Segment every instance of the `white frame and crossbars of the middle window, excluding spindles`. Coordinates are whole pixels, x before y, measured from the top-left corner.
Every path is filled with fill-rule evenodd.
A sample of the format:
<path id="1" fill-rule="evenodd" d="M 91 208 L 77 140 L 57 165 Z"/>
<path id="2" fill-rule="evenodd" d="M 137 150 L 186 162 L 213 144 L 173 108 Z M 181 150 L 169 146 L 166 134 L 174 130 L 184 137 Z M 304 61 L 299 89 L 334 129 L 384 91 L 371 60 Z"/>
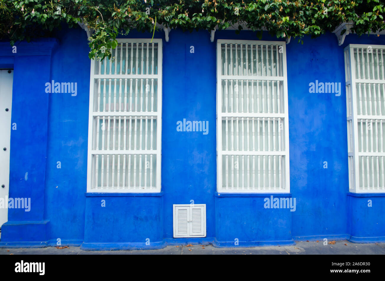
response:
<path id="1" fill-rule="evenodd" d="M 285 113 L 243 113 L 244 117 L 275 117 L 275 118 L 284 118 L 285 126 L 285 151 L 242 151 L 241 155 L 281 155 L 285 156 L 285 178 L 283 182 L 285 183 L 285 189 L 225 189 L 222 187 L 222 118 L 229 116 L 237 116 L 234 113 L 222 113 L 222 66 L 221 66 L 221 44 L 259 44 L 259 45 L 278 45 L 282 46 L 283 53 L 283 76 L 278 78 L 278 76 L 240 76 L 235 75 L 229 76 L 228 79 L 237 79 L 238 80 L 278 80 L 283 83 L 284 90 L 284 101 L 283 106 Z M 286 43 L 283 41 L 257 41 L 257 40 L 217 40 L 217 191 L 218 193 L 290 193 L 290 159 L 289 159 L 289 124 L 288 124 L 288 86 L 287 86 L 287 69 L 286 69 Z M 240 116 L 240 115 L 238 115 Z M 240 151 L 233 151 L 233 155 L 239 155 Z M 228 153 L 228 155 L 230 155 Z"/>

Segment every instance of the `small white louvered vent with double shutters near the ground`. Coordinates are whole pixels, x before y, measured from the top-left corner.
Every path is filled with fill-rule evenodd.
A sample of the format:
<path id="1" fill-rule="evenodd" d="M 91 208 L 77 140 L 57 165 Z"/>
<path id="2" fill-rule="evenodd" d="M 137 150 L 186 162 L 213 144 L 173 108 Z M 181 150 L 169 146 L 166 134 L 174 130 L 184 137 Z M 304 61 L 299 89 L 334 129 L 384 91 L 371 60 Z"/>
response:
<path id="1" fill-rule="evenodd" d="M 174 238 L 206 237 L 206 204 L 173 206 Z"/>

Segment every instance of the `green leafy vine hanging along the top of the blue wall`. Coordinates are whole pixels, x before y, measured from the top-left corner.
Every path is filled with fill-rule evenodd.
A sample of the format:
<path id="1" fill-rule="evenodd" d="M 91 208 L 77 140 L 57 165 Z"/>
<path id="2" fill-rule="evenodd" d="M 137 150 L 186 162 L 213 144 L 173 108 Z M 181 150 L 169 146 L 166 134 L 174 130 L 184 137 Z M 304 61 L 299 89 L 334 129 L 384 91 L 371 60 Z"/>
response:
<path id="1" fill-rule="evenodd" d="M 84 22 L 94 30 L 89 57 L 111 57 L 119 33 L 152 32 L 155 18 L 189 31 L 239 23 L 238 32 L 250 28 L 258 38 L 263 28 L 278 38 L 301 38 L 333 31 L 342 22 L 353 22 L 359 35 L 383 30 L 384 10 L 380 0 L 0 0 L 0 39 L 29 41 L 53 35 L 63 23 L 72 28 Z"/>

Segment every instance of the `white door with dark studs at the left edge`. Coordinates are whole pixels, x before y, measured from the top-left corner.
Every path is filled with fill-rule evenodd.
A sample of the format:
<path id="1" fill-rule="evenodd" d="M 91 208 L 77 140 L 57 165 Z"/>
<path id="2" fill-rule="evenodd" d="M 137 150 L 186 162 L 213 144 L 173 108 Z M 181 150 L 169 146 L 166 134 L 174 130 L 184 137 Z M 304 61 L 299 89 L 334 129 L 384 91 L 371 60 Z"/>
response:
<path id="1" fill-rule="evenodd" d="M 13 70 L 0 70 L 0 228 L 8 221 L 12 80 Z"/>

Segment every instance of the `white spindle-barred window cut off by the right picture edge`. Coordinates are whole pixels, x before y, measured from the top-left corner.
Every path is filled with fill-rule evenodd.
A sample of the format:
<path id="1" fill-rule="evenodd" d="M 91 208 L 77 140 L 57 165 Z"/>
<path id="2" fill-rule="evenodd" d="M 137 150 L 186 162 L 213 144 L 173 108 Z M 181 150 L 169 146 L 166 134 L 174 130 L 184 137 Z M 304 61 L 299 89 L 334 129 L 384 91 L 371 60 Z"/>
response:
<path id="1" fill-rule="evenodd" d="M 384 45 L 345 50 L 349 191 L 385 192 Z"/>

